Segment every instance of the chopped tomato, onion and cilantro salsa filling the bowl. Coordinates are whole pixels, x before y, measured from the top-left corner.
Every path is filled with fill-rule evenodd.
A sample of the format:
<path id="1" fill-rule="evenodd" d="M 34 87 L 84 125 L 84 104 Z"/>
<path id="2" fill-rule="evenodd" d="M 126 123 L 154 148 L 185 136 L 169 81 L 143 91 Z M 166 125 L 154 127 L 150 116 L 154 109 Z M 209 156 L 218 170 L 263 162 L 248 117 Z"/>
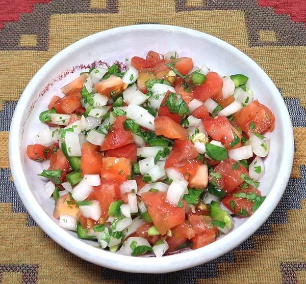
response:
<path id="1" fill-rule="evenodd" d="M 59 225 L 126 255 L 214 242 L 264 202 L 272 111 L 243 74 L 220 76 L 176 52 L 94 66 L 40 113 L 27 155 Z"/>

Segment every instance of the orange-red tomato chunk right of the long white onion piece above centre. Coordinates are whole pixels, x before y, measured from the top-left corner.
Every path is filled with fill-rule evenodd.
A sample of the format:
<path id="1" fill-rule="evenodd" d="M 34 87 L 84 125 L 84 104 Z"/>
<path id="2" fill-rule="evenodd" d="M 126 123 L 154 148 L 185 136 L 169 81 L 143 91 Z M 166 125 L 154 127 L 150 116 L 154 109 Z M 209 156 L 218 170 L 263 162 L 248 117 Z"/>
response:
<path id="1" fill-rule="evenodd" d="M 156 135 L 164 135 L 170 139 L 188 139 L 186 129 L 173 119 L 162 116 L 157 117 L 154 122 Z"/>

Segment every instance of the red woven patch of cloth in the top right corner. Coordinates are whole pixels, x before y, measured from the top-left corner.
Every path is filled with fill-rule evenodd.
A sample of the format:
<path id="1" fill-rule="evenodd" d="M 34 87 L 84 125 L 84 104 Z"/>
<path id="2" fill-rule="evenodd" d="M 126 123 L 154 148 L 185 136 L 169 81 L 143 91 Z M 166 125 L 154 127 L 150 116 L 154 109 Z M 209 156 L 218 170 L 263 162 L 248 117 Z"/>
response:
<path id="1" fill-rule="evenodd" d="M 258 5 L 273 7 L 276 14 L 290 15 L 295 22 L 306 22 L 306 0 L 258 0 Z"/>

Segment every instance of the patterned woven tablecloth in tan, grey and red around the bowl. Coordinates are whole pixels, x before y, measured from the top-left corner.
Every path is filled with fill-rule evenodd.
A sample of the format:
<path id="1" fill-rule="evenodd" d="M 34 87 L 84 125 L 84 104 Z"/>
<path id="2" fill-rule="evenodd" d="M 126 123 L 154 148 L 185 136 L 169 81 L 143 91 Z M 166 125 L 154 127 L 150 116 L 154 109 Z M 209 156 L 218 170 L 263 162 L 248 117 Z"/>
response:
<path id="1" fill-rule="evenodd" d="M 306 283 L 305 0 L 0 0 L 0 282 Z M 9 125 L 31 77 L 58 51 L 111 27 L 190 27 L 238 47 L 269 74 L 289 109 L 295 159 L 268 221 L 210 263 L 163 275 L 117 272 L 65 251 L 35 224 L 14 187 Z"/>

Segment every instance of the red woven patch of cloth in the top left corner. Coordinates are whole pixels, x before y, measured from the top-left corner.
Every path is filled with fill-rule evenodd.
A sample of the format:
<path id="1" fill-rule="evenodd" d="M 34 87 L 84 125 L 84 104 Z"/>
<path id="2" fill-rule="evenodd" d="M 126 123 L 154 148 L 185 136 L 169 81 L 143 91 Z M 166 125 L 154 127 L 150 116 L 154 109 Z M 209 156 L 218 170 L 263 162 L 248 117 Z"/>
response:
<path id="1" fill-rule="evenodd" d="M 32 13 L 37 3 L 48 3 L 50 0 L 0 0 L 0 29 L 5 22 L 18 21 L 20 14 Z"/>

